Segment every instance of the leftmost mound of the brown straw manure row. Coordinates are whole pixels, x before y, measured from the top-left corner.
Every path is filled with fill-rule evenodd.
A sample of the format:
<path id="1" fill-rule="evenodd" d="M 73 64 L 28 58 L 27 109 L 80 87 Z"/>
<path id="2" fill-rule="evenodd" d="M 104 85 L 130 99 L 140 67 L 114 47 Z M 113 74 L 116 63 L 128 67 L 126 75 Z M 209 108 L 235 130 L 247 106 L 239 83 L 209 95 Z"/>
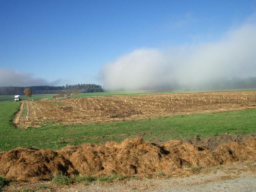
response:
<path id="1" fill-rule="evenodd" d="M 50 149 L 16 148 L 0 154 L 0 175 L 12 180 L 48 180 L 74 174 L 72 164 Z"/>

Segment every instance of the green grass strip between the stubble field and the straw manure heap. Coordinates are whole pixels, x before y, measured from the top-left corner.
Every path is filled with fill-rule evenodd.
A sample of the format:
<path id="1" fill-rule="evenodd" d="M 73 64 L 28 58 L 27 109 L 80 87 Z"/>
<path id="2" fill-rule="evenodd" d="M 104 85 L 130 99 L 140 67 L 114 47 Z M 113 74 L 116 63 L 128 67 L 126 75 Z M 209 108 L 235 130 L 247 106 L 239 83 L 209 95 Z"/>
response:
<path id="1" fill-rule="evenodd" d="M 35 97 L 46 98 L 45 95 Z M 19 146 L 59 149 L 70 144 L 102 144 L 137 136 L 151 142 L 164 142 L 170 139 L 191 138 L 195 135 L 205 137 L 225 132 L 256 132 L 256 109 L 109 124 L 63 126 L 52 122 L 41 128 L 20 130 L 12 124 L 19 106 L 20 102 L 0 102 L 0 151 Z"/>

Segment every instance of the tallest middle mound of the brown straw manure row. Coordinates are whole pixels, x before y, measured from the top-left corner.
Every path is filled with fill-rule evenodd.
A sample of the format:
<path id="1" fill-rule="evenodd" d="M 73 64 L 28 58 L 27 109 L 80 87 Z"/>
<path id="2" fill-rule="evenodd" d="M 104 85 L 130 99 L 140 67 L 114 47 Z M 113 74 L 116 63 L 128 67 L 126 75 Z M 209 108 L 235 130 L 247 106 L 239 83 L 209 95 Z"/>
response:
<path id="1" fill-rule="evenodd" d="M 120 173 L 133 175 L 154 172 L 161 166 L 160 149 L 141 138 L 126 139 L 122 143 L 108 142 L 105 145 L 83 144 L 59 151 L 76 170 L 83 175 Z"/>

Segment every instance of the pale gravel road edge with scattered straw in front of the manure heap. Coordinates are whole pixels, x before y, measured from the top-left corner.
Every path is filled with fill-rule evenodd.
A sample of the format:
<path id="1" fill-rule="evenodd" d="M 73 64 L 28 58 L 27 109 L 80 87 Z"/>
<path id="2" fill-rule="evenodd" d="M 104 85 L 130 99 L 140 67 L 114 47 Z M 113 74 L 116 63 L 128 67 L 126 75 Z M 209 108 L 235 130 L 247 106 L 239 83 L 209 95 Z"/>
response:
<path id="1" fill-rule="evenodd" d="M 40 190 L 39 190 L 40 189 Z M 205 168 L 188 176 L 130 179 L 55 186 L 50 181 L 20 183 L 2 189 L 35 192 L 256 192 L 256 162 Z M 1 190 L 0 190 L 1 191 Z"/>

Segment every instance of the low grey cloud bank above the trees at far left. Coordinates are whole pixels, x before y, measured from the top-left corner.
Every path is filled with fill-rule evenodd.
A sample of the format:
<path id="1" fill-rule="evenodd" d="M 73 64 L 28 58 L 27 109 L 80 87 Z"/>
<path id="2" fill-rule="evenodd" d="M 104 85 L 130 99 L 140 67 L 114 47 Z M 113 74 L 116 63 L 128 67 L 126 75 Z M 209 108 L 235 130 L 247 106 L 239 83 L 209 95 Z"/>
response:
<path id="1" fill-rule="evenodd" d="M 36 78 L 29 72 L 18 72 L 7 68 L 0 68 L 0 86 L 41 86 L 57 85 L 60 80 L 49 82 L 42 78 Z"/>

